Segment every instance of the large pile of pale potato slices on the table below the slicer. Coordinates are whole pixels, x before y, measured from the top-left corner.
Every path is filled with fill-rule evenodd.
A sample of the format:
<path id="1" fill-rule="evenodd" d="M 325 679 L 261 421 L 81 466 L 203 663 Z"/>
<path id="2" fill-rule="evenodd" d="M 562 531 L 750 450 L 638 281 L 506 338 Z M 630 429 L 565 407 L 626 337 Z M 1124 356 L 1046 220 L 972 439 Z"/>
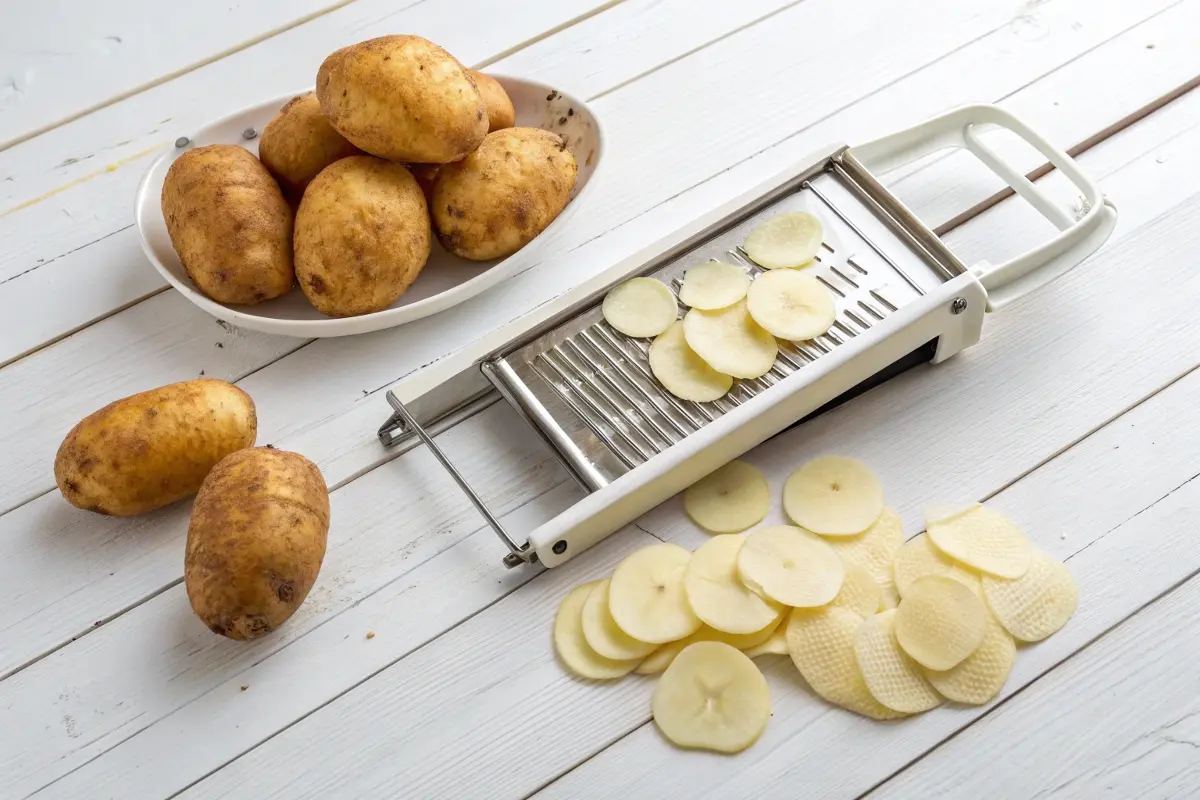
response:
<path id="1" fill-rule="evenodd" d="M 680 747 L 739 752 L 770 717 L 752 658 L 790 655 L 821 698 L 872 720 L 946 700 L 982 705 L 1075 612 L 1066 566 L 998 511 L 930 505 L 905 541 L 862 462 L 820 456 L 784 483 L 791 525 L 757 525 L 770 489 L 733 461 L 683 494 L 714 536 L 695 552 L 643 547 L 610 578 L 572 589 L 554 648 L 575 675 L 659 674 L 652 711 Z"/>

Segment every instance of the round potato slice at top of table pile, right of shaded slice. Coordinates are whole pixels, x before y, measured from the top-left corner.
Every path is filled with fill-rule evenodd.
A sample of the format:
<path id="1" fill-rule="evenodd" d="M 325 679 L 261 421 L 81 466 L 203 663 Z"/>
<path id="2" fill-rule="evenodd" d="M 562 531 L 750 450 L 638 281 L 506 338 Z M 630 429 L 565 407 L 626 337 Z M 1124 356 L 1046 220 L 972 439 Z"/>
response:
<path id="1" fill-rule="evenodd" d="M 856 458 L 817 456 L 784 483 L 784 512 L 814 534 L 854 536 L 883 513 L 883 485 Z"/>

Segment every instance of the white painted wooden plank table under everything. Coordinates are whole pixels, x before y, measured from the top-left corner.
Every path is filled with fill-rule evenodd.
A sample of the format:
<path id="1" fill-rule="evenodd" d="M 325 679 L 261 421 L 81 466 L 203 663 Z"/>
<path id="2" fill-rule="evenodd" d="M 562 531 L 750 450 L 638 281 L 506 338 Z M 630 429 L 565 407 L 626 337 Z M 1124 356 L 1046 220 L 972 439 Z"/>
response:
<path id="1" fill-rule="evenodd" d="M 0 796 L 1200 795 L 1200 0 L 42 0 L 2 22 Z M 154 155 L 390 32 L 602 115 L 600 185 L 540 264 L 415 324 L 311 342 L 167 290 L 132 218 Z M 548 625 L 634 547 L 697 543 L 677 505 L 560 569 L 508 571 L 430 453 L 378 445 L 383 392 L 822 145 L 965 102 L 1081 145 L 1112 239 L 976 348 L 749 458 L 778 492 L 812 453 L 862 457 L 910 535 L 928 500 L 988 499 L 1067 559 L 1079 612 L 986 708 L 874 723 L 768 660 L 754 747 L 676 751 L 653 681 L 570 679 Z M 997 185 L 965 156 L 890 182 L 967 261 L 1050 233 L 1020 200 L 979 205 Z M 1072 201 L 1061 175 L 1042 182 Z M 316 589 L 252 644 L 188 608 L 188 503 L 110 519 L 54 489 L 78 419 L 200 374 L 246 389 L 259 443 L 332 489 Z M 508 408 L 439 441 L 512 528 L 575 499 Z"/>

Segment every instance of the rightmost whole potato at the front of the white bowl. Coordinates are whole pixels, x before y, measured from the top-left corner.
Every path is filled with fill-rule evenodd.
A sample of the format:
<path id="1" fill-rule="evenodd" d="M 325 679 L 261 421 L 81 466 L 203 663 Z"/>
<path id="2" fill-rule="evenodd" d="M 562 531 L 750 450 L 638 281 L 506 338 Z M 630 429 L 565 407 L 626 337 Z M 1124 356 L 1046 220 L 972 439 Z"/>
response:
<path id="1" fill-rule="evenodd" d="M 566 206 L 577 172 L 557 133 L 488 133 L 479 150 L 438 170 L 432 215 L 442 246 L 476 261 L 517 252 Z"/>

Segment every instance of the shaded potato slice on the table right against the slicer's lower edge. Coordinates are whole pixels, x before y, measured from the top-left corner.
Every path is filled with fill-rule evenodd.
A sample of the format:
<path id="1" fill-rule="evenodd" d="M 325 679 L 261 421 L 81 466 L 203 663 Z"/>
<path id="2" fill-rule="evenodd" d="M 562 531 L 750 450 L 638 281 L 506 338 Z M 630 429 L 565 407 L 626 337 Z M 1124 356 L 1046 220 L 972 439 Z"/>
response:
<path id="1" fill-rule="evenodd" d="M 770 487 L 756 467 L 731 461 L 684 489 L 683 510 L 710 534 L 738 534 L 767 516 Z"/>

